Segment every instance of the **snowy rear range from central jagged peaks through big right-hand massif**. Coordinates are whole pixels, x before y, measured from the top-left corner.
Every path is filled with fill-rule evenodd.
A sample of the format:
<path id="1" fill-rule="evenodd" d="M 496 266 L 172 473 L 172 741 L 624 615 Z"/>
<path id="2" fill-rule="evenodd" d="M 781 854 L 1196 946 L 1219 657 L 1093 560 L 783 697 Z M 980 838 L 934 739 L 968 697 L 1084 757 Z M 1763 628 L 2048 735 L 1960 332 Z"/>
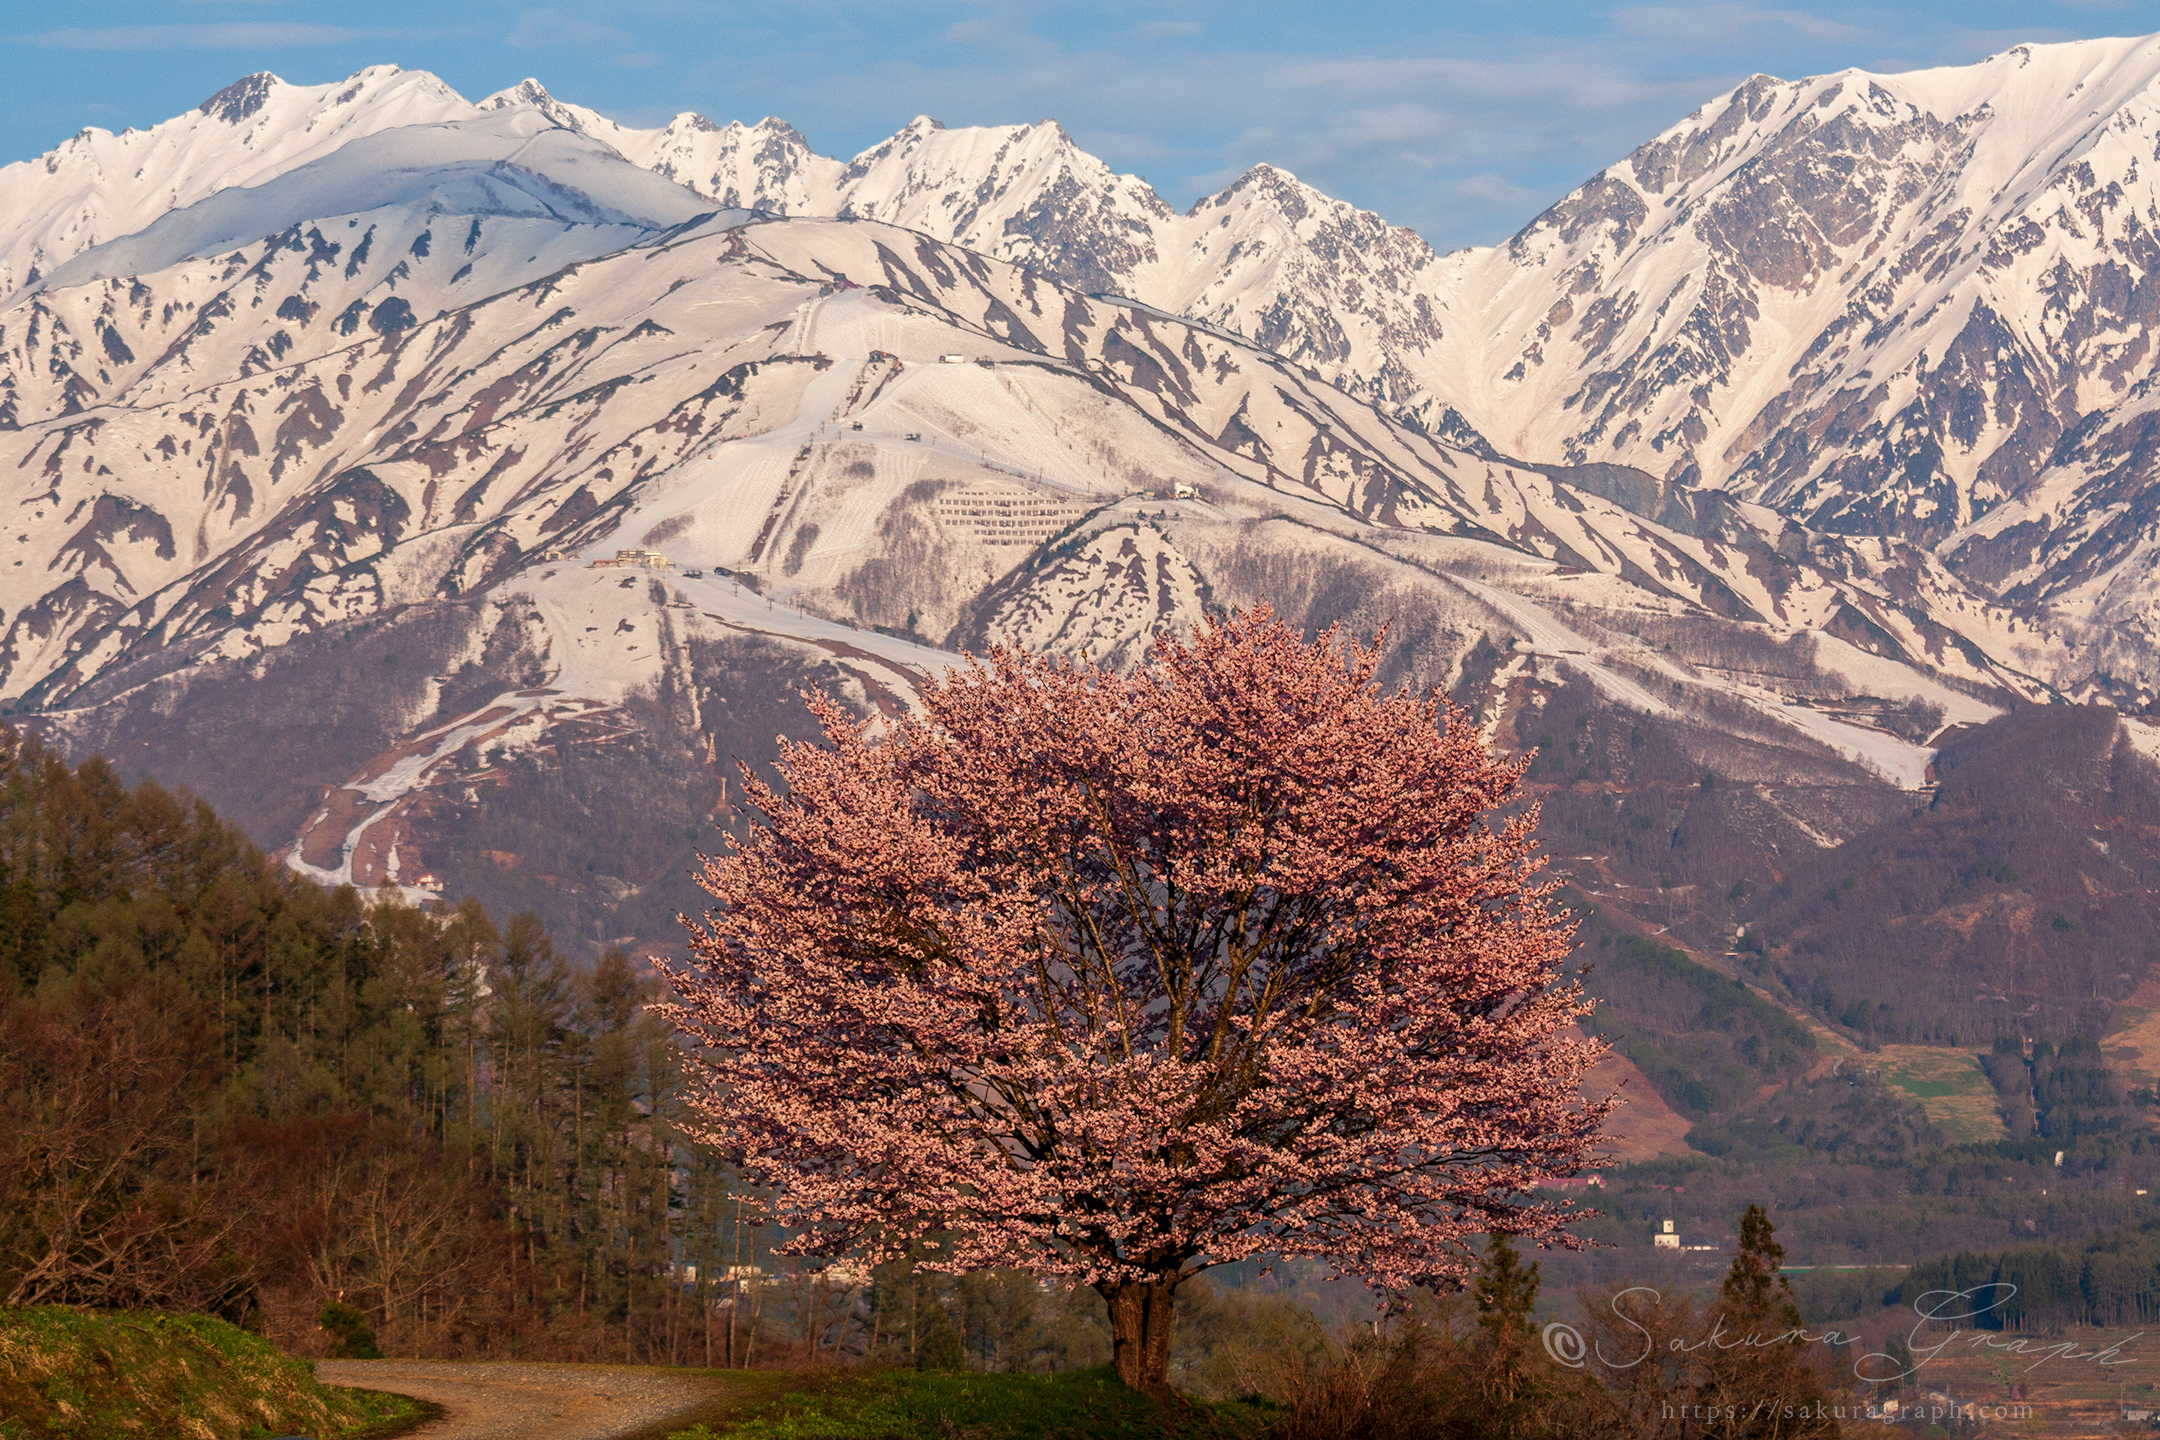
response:
<path id="1" fill-rule="evenodd" d="M 1052 123 L 927 119 L 849 164 L 778 121 L 637 132 L 531 104 L 715 201 L 877 216 L 1231 330 L 1480 453 L 1622 464 L 1940 555 L 2160 695 L 2138 497 L 2160 39 L 1758 76 L 1514 240 L 1436 257 L 1259 166 L 1175 214 Z"/>

